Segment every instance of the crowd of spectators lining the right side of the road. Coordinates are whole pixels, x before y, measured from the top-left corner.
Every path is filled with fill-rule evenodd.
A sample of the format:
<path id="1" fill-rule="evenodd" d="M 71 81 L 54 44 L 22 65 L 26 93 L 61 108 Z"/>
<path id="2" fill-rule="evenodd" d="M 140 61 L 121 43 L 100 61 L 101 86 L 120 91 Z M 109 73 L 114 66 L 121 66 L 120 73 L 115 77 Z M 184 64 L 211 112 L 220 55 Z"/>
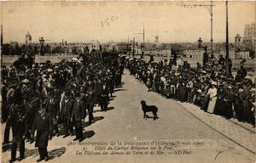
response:
<path id="1" fill-rule="evenodd" d="M 230 70 L 227 75 L 225 64 L 222 56 L 209 59 L 205 66 L 197 63 L 196 67 L 188 61 L 177 66 L 172 59 L 155 62 L 153 57 L 148 62 L 128 57 L 125 60 L 125 67 L 148 87 L 148 92 L 195 104 L 208 113 L 236 118 L 254 127 L 255 85 L 243 65 L 234 77 Z"/>

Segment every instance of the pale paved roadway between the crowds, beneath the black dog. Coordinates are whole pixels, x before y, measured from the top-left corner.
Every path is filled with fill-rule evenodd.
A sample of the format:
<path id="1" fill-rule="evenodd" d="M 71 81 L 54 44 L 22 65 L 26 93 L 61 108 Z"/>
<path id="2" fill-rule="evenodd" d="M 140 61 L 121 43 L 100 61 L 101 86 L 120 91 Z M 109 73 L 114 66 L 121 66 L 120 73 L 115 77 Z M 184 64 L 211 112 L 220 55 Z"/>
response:
<path id="1" fill-rule="evenodd" d="M 68 146 L 73 137 L 53 138 L 49 142 L 49 162 L 253 162 L 254 155 L 219 132 L 191 115 L 176 101 L 148 92 L 147 87 L 125 70 L 122 87 L 116 89 L 109 104 L 110 110 L 95 109 L 96 123 L 86 126 L 83 143 L 119 141 L 166 141 L 203 142 L 201 147 L 189 146 L 187 155 L 76 155 L 84 147 L 78 144 Z M 159 108 L 159 119 L 143 119 L 141 100 Z M 151 113 L 148 113 L 150 115 Z M 88 117 L 86 117 L 88 121 Z M 4 128 L 4 127 L 3 127 Z M 18 155 L 19 156 L 19 155 Z M 3 153 L 3 162 L 10 158 L 10 151 Z M 21 162 L 35 162 L 38 151 L 34 143 L 26 143 L 26 159 Z M 44 161 L 43 161 L 44 162 Z"/>

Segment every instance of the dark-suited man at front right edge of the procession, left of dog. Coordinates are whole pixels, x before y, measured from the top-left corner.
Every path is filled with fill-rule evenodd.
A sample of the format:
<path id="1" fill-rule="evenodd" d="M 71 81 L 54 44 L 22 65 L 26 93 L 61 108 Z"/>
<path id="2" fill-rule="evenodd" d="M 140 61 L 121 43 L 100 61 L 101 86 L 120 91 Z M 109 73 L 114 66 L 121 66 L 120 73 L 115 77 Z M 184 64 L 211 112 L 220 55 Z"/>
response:
<path id="1" fill-rule="evenodd" d="M 75 102 L 73 104 L 73 111 L 71 115 L 71 121 L 74 122 L 76 138 L 73 141 L 79 140 L 79 142 L 83 141 L 83 127 L 82 121 L 85 118 L 86 112 L 84 108 L 84 101 L 80 99 L 80 94 L 75 94 Z"/>

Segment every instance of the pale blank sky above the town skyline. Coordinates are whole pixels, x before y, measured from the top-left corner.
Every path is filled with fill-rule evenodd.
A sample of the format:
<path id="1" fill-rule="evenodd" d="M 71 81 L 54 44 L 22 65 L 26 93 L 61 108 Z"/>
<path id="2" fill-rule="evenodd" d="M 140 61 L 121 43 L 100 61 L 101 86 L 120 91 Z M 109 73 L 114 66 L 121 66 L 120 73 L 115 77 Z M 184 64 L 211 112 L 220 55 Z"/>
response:
<path id="1" fill-rule="evenodd" d="M 210 41 L 210 14 L 207 8 L 184 8 L 183 4 L 210 2 L 2 2 L 3 42 L 32 42 L 44 37 L 48 42 L 126 41 L 128 36 L 154 42 Z M 214 2 L 213 41 L 225 41 L 225 3 Z M 229 2 L 230 42 L 244 26 L 255 23 L 254 2 Z"/>

